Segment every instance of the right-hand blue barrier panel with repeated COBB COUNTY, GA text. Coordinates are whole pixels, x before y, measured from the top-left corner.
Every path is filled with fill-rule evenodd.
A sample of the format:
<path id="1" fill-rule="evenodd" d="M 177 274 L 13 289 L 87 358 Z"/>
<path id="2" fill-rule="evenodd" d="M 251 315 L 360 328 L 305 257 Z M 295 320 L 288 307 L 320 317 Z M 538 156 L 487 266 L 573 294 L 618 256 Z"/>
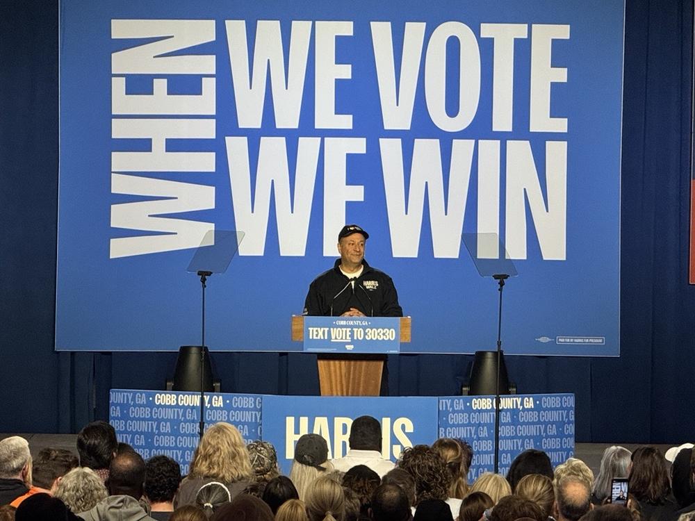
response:
<path id="1" fill-rule="evenodd" d="M 473 447 L 468 480 L 493 472 L 495 397 L 439 398 L 439 436 L 461 438 Z M 512 395 L 501 397 L 500 474 L 525 449 L 550 456 L 553 467 L 574 454 L 574 395 Z"/>

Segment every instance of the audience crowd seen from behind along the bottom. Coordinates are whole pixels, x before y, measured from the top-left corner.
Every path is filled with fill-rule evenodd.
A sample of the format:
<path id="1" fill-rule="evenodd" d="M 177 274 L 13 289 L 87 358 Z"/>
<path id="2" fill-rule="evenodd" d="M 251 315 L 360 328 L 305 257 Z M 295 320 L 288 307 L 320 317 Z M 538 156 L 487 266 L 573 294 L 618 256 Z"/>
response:
<path id="1" fill-rule="evenodd" d="M 77 455 L 19 436 L 0 440 L 0 521 L 695 521 L 695 453 L 609 447 L 600 470 L 577 458 L 553 469 L 545 452 L 519 454 L 507 476 L 473 483 L 473 450 L 440 438 L 382 458 L 375 418 L 354 420 L 350 448 L 329 459 L 326 440 L 305 434 L 285 476 L 275 447 L 246 443 L 228 423 L 209 427 L 181 476 L 167 456 L 147 461 L 118 443 L 106 422 L 79 433 Z M 78 457 L 79 456 L 79 457 Z M 625 501 L 612 502 L 625 478 Z M 621 489 L 621 493 L 623 489 Z"/>

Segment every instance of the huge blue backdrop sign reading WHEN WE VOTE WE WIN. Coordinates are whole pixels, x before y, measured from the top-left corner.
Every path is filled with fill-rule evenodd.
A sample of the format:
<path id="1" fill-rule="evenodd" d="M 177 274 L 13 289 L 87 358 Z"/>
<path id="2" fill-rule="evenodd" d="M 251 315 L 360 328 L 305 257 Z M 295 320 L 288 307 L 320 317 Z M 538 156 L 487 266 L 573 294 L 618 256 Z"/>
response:
<path id="1" fill-rule="evenodd" d="M 56 349 L 300 351 L 338 231 L 414 318 L 402 352 L 619 354 L 624 0 L 60 1 Z M 479 249 L 479 251 L 481 251 Z M 498 247 L 483 248 L 499 258 Z M 584 341 L 586 340 L 586 341 Z"/>

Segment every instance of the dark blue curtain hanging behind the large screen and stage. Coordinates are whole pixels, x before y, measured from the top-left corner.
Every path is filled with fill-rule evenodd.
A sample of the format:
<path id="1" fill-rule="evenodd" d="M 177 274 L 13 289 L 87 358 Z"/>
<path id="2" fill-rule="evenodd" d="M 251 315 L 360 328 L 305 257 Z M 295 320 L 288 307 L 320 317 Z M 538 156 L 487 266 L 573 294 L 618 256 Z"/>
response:
<path id="1" fill-rule="evenodd" d="M 519 392 L 574 392 L 580 442 L 692 440 L 687 283 L 693 5 L 628 0 L 620 358 L 509 357 Z M 0 432 L 75 432 L 109 388 L 163 388 L 176 354 L 56 353 L 58 7 L 0 16 Z M 88 267 L 85 267 L 88 269 Z M 591 283 L 591 281 L 587 281 Z M 571 288 L 569 288 L 571 289 Z M 215 354 L 226 392 L 318 394 L 316 358 Z M 456 395 L 471 356 L 389 356 L 393 395 Z"/>

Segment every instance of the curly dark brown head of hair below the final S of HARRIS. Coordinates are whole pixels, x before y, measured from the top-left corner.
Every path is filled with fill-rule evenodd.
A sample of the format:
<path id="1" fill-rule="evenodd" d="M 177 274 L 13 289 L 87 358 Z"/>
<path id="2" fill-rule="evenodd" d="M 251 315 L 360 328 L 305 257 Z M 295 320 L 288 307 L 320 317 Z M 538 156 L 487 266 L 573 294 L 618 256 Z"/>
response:
<path id="1" fill-rule="evenodd" d="M 427 445 L 415 445 L 400 455 L 398 467 L 407 470 L 415 480 L 415 501 L 446 499 L 451 474 L 436 452 Z"/>

